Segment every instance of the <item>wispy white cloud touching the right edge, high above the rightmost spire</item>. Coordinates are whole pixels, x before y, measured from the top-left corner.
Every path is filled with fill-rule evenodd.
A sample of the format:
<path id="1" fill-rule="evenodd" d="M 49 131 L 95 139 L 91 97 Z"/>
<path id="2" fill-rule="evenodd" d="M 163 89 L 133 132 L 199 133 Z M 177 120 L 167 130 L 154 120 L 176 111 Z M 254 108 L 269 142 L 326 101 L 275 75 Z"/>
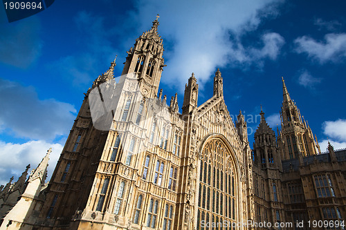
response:
<path id="1" fill-rule="evenodd" d="M 307 36 L 298 37 L 294 41 L 295 52 L 306 53 L 320 64 L 337 62 L 346 57 L 346 33 L 330 33 L 325 35 L 325 41 L 316 41 Z"/>

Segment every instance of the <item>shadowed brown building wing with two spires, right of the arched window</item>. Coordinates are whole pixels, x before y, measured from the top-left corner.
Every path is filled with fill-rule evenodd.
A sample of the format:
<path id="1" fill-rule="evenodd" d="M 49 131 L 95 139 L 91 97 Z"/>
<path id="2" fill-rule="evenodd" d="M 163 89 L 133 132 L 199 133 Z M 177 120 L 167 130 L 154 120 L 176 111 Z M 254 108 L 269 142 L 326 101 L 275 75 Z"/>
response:
<path id="1" fill-rule="evenodd" d="M 346 216 L 346 149 L 334 151 L 329 143 L 328 151 L 320 152 L 317 137 L 313 138 L 309 124 L 289 96 L 284 79 L 282 84 L 281 131 L 277 128 L 276 137 L 261 111 L 255 132 L 255 220 L 293 224 L 286 229 L 345 229 L 333 224 L 314 227 L 313 221 L 339 223 Z"/>

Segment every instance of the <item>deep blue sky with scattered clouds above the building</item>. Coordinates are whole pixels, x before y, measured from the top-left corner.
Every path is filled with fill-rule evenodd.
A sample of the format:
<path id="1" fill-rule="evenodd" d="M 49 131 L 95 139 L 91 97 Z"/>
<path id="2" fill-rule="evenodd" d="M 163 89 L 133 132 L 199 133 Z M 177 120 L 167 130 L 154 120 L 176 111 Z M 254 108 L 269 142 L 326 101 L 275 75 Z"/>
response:
<path id="1" fill-rule="evenodd" d="M 249 142 L 260 122 L 280 125 L 284 77 L 291 98 L 317 135 L 346 147 L 345 1 L 82 1 L 8 23 L 0 10 L 0 184 L 37 166 L 53 148 L 51 174 L 83 93 L 160 14 L 163 94 L 178 93 L 192 74 L 199 104 L 212 96 L 220 68 L 230 115 L 242 110 Z M 33 169 L 33 168 L 32 168 Z"/>

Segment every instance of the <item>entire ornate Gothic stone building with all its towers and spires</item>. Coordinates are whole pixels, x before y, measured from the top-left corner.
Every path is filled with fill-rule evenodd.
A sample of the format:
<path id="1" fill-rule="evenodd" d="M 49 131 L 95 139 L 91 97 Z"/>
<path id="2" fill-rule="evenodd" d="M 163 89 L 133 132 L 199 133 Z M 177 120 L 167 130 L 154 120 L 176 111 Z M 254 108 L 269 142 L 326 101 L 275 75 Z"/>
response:
<path id="1" fill-rule="evenodd" d="M 225 221 L 224 229 L 260 229 L 242 223 L 342 220 L 346 151 L 329 146 L 319 154 L 286 86 L 282 130 L 276 138 L 261 112 L 251 151 L 244 116 L 233 121 L 227 110 L 219 70 L 207 102 L 197 106 L 192 74 L 182 113 L 177 95 L 166 105 L 157 29 L 156 19 L 127 51 L 120 79 L 115 61 L 95 79 L 51 181 L 44 184 L 48 151 L 26 182 L 28 169 L 2 189 L 0 229 L 209 229 L 206 222 Z"/>

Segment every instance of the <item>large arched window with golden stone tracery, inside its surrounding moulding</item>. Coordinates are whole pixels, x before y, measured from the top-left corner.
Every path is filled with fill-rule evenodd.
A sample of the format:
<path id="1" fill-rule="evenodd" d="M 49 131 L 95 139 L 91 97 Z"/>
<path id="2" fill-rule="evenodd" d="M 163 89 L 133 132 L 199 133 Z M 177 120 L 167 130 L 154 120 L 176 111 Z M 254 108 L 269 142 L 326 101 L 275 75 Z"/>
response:
<path id="1" fill-rule="evenodd" d="M 236 222 L 237 175 L 230 150 L 222 140 L 214 138 L 205 144 L 201 155 L 197 229 L 203 229 L 200 224 L 207 218 Z"/>

